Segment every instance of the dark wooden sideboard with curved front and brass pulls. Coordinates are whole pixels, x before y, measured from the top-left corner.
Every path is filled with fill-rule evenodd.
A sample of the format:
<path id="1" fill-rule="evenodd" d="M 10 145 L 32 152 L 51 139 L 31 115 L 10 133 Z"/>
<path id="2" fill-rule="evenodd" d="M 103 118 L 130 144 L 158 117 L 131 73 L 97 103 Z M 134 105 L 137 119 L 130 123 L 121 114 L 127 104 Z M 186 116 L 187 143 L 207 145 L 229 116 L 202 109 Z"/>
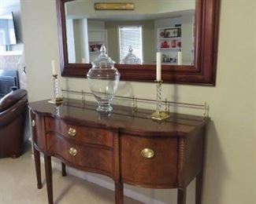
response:
<path id="1" fill-rule="evenodd" d="M 123 184 L 145 188 L 178 188 L 178 204 L 186 203 L 187 185 L 196 177 L 196 204 L 202 203 L 202 169 L 206 120 L 171 114 L 164 122 L 152 111 L 113 106 L 109 115 L 92 102 L 65 99 L 29 104 L 38 188 L 42 188 L 43 152 L 49 203 L 54 203 L 51 156 L 65 165 L 113 178 L 116 203 L 123 203 Z"/>

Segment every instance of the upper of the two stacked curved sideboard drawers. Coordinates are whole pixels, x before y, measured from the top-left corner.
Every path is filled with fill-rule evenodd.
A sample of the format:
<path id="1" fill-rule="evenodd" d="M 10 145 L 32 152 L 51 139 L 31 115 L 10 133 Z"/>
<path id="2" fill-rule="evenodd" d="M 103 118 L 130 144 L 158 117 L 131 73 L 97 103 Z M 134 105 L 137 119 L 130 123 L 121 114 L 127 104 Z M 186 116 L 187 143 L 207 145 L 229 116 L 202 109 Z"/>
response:
<path id="1" fill-rule="evenodd" d="M 113 148 L 113 133 L 106 129 L 76 126 L 59 119 L 46 118 L 46 131 L 60 133 L 78 143 L 101 144 Z"/>

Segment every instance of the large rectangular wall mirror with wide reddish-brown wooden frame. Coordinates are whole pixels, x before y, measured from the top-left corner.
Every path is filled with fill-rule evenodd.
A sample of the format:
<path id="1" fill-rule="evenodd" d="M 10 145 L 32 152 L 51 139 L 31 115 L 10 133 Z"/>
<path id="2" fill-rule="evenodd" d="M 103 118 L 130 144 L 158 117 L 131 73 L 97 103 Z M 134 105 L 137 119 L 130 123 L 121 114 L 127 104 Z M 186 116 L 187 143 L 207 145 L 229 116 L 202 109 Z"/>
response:
<path id="1" fill-rule="evenodd" d="M 134 0 L 134 10 L 95 2 L 57 0 L 62 76 L 85 78 L 104 45 L 121 80 L 154 82 L 161 52 L 164 82 L 215 85 L 218 0 Z"/>

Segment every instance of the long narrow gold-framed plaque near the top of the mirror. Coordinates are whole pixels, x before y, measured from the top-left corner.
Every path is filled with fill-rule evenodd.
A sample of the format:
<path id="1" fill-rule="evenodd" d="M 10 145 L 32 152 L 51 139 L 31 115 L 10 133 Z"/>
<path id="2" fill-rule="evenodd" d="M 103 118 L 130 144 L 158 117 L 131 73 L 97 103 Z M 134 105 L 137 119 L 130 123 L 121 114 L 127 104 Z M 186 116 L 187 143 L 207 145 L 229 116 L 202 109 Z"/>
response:
<path id="1" fill-rule="evenodd" d="M 134 10 L 134 3 L 95 3 L 95 10 Z"/>

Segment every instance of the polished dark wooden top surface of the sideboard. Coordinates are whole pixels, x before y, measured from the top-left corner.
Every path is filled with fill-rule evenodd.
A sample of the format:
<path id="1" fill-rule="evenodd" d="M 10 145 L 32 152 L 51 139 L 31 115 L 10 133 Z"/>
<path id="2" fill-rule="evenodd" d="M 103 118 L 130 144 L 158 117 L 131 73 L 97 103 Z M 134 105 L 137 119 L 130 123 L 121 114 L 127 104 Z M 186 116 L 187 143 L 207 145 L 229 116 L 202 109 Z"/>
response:
<path id="1" fill-rule="evenodd" d="M 184 136 L 195 129 L 206 125 L 203 117 L 195 115 L 181 115 L 171 113 L 171 117 L 163 122 L 149 118 L 152 110 L 137 108 L 133 112 L 132 107 L 113 105 L 113 111 L 109 115 L 96 111 L 95 102 L 65 99 L 60 106 L 48 103 L 48 100 L 40 100 L 29 103 L 29 108 L 39 115 L 52 118 L 61 118 L 73 125 L 95 126 L 121 131 L 122 133 L 141 134 L 154 136 L 161 133 L 165 136 Z"/>

